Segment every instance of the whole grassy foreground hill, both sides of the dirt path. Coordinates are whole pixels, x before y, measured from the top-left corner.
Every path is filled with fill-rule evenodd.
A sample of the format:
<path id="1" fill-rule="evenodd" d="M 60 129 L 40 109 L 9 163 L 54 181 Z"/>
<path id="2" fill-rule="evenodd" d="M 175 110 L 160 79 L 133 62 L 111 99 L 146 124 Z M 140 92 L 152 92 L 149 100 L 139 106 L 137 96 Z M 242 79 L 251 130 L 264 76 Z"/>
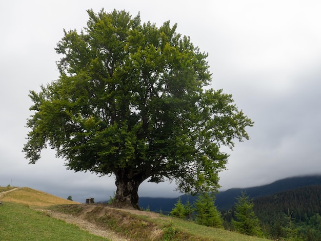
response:
<path id="1" fill-rule="evenodd" d="M 77 204 L 30 188 L 4 191 L 8 190 L 0 188 L 3 203 L 0 206 L 0 240 L 109 240 L 57 220 L 51 212 L 73 215 L 95 227 L 112 230 L 123 238 L 118 240 L 267 240 L 152 212 L 117 210 L 106 204 Z M 35 207 L 43 211 L 34 210 Z"/>

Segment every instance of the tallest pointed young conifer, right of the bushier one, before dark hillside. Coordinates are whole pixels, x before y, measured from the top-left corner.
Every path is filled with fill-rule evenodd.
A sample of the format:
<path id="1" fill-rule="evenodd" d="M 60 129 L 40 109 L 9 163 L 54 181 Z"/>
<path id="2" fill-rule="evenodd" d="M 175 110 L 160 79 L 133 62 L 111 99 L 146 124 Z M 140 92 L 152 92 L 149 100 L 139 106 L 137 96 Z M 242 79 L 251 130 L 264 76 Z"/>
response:
<path id="1" fill-rule="evenodd" d="M 254 204 L 252 199 L 246 196 L 246 192 L 242 192 L 242 196 L 238 196 L 236 199 L 236 220 L 232 220 L 234 228 L 242 234 L 263 236 L 259 220 L 253 211 Z"/>

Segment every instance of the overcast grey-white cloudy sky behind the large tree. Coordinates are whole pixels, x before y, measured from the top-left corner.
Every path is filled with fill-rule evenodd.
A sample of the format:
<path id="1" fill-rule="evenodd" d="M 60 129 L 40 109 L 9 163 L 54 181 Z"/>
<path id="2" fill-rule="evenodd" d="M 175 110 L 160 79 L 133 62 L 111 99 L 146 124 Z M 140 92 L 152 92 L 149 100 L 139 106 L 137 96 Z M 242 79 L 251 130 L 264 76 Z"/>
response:
<path id="1" fill-rule="evenodd" d="M 321 174 L 321 2 L 285 0 L 1 1 L 0 185 L 30 187 L 84 202 L 106 200 L 114 179 L 74 173 L 45 150 L 35 165 L 22 153 L 31 112 L 29 90 L 58 77 L 56 43 L 63 29 L 86 26 L 86 10 L 141 12 L 142 22 L 170 20 L 208 52 L 214 89 L 232 94 L 254 122 L 237 143 L 222 190 Z M 173 184 L 143 183 L 140 196 L 178 196 Z"/>

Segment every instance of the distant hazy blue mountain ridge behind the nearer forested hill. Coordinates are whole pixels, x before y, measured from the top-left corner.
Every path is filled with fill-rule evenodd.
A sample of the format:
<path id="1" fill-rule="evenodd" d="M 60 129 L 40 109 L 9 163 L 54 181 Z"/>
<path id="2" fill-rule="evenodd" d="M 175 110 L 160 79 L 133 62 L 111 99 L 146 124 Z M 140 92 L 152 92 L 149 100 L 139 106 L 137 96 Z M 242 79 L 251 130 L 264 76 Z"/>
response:
<path id="1" fill-rule="evenodd" d="M 297 189 L 305 186 L 321 185 L 321 175 L 309 175 L 309 176 L 295 176 L 285 179 L 276 180 L 275 182 L 263 186 L 250 187 L 250 188 L 232 188 L 226 191 L 217 193 L 215 205 L 218 210 L 228 210 L 234 206 L 236 197 L 241 194 L 242 191 L 246 191 L 246 194 L 250 198 L 257 198 L 262 196 L 268 196 L 277 192 Z M 174 208 L 174 204 L 177 202 L 177 198 L 155 198 L 155 197 L 140 197 L 139 206 L 146 209 L 149 207 L 151 211 L 169 212 Z M 196 200 L 196 196 L 182 195 L 180 196 L 182 203 L 185 203 L 187 199 L 191 203 Z"/>

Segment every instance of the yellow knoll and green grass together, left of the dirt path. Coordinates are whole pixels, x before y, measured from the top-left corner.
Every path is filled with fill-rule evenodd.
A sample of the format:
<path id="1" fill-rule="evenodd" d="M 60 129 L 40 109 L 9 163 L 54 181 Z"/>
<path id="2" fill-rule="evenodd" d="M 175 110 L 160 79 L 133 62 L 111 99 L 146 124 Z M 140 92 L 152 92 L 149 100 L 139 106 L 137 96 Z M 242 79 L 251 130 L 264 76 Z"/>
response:
<path id="1" fill-rule="evenodd" d="M 0 187 L 0 200 L 0 240 L 110 240 L 34 209 L 79 203 L 26 187 Z"/>

